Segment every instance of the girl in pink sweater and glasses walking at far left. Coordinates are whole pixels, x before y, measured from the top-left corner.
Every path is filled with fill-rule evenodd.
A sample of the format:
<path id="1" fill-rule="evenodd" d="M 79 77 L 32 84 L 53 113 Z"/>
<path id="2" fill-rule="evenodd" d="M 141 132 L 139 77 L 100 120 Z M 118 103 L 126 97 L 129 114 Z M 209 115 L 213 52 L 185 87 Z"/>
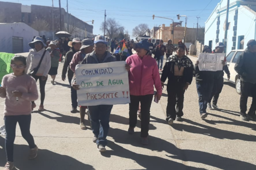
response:
<path id="1" fill-rule="evenodd" d="M 5 152 L 7 163 L 4 170 L 14 169 L 14 140 L 16 124 L 19 123 L 22 137 L 29 144 L 28 159 L 34 159 L 38 153 L 34 138 L 30 133 L 31 125 L 31 101 L 38 99 L 38 90 L 35 80 L 25 74 L 26 58 L 15 55 L 11 59 L 13 73 L 3 77 L 0 87 L 0 97 L 5 98 L 4 125 L 6 130 Z"/>

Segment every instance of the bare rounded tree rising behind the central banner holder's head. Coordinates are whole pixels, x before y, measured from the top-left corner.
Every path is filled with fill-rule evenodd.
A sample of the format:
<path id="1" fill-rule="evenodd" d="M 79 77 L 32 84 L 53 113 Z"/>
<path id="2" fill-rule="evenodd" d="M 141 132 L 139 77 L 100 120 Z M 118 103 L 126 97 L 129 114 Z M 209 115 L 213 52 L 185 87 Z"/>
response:
<path id="1" fill-rule="evenodd" d="M 104 32 L 104 22 L 101 23 L 100 30 Z M 124 27 L 115 21 L 114 18 L 107 18 L 105 31 L 109 38 L 113 39 L 114 37 L 117 37 L 119 33 L 124 32 Z"/>

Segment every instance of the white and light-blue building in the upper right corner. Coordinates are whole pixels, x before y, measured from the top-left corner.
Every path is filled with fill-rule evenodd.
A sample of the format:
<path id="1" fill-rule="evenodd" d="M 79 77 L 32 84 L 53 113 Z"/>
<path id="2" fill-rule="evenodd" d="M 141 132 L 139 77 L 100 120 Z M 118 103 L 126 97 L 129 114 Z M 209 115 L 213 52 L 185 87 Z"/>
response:
<path id="1" fill-rule="evenodd" d="M 245 49 L 247 42 L 256 38 L 256 1 L 230 0 L 227 53 L 233 49 Z M 215 48 L 217 42 L 224 43 L 227 0 L 221 0 L 205 22 L 205 45 Z"/>

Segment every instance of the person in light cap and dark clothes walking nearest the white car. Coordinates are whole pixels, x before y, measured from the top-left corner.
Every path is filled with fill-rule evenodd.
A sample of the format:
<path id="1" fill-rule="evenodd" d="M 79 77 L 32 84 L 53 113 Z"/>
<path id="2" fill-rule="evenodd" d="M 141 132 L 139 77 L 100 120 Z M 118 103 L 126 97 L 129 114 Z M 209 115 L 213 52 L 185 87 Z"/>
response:
<path id="1" fill-rule="evenodd" d="M 218 42 L 216 44 L 216 47 L 215 47 L 215 50 L 212 51 L 212 53 L 223 53 L 224 52 L 224 43 L 223 42 Z M 223 85 L 224 85 L 224 79 L 223 79 L 223 76 L 224 76 L 224 72 L 228 75 L 228 79 L 230 78 L 230 72 L 228 70 L 228 66 L 225 65 L 225 59 L 223 61 L 223 70 L 221 71 L 216 71 L 215 72 L 215 75 L 214 75 L 214 87 L 212 89 L 212 92 L 211 92 L 211 96 L 210 96 L 210 99 L 209 99 L 209 102 L 208 102 L 208 108 L 209 109 L 215 109 L 215 110 L 218 110 L 218 106 L 217 106 L 217 102 L 218 102 L 218 97 L 220 96 L 220 93 L 222 91 L 222 88 L 223 88 Z M 212 100 L 212 105 L 211 105 L 211 99 L 214 98 Z"/>

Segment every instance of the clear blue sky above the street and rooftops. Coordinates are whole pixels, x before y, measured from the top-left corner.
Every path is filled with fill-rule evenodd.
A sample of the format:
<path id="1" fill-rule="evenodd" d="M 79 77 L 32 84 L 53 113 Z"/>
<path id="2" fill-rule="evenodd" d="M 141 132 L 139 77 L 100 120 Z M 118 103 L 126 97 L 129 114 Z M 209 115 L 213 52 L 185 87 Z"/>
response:
<path id="1" fill-rule="evenodd" d="M 3 0 L 0 0 L 3 1 Z M 5 1 L 5 0 L 4 0 Z M 83 21 L 94 20 L 94 34 L 103 34 L 100 31 L 100 25 L 104 21 L 104 10 L 106 9 L 107 17 L 115 18 L 129 34 L 132 29 L 140 23 L 147 23 L 149 28 L 166 24 L 169 26 L 171 20 L 155 18 L 162 16 L 172 18 L 174 22 L 178 22 L 176 15 L 187 15 L 187 27 L 196 27 L 197 16 L 199 16 L 199 25 L 204 26 L 205 21 L 210 16 L 212 10 L 221 0 L 130 0 L 130 1 L 113 1 L 113 0 L 68 0 L 69 12 Z M 45 5 L 51 6 L 52 0 L 7 0 L 6 2 L 22 3 L 23 5 Z M 58 7 L 59 1 L 54 0 L 54 7 Z M 62 8 L 66 9 L 66 0 L 61 0 Z M 181 17 L 180 21 L 185 21 Z M 185 26 L 185 22 L 183 24 Z"/>

